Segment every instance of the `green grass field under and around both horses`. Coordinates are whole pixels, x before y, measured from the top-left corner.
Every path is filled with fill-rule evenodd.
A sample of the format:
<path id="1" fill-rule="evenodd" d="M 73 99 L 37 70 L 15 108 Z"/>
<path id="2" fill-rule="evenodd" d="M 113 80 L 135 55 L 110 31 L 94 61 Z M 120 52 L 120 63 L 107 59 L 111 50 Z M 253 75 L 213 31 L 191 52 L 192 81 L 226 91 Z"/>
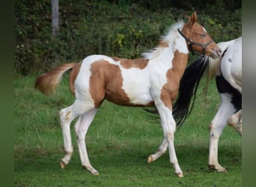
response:
<path id="1" fill-rule="evenodd" d="M 175 133 L 175 149 L 184 177 L 177 178 L 168 153 L 151 164 L 147 156 L 162 142 L 159 121 L 141 108 L 104 102 L 86 138 L 93 176 L 82 169 L 74 129 L 74 153 L 61 169 L 64 156 L 58 112 L 73 102 L 64 76 L 58 92 L 46 97 L 33 88 L 35 76 L 14 82 L 14 185 L 15 186 L 242 186 L 242 139 L 227 127 L 219 141 L 219 162 L 228 173 L 207 166 L 208 124 L 219 105 L 215 83 L 207 96 L 199 96 L 192 114 Z M 201 82 L 201 88 L 204 82 Z M 74 122 L 73 122 L 74 123 Z"/>

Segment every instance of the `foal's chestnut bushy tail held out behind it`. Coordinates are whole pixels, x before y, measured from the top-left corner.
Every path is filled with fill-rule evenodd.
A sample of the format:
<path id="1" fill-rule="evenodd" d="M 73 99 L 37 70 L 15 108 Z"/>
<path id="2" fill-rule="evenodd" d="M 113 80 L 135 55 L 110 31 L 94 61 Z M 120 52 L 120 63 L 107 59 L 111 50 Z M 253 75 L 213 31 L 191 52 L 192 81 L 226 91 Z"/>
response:
<path id="1" fill-rule="evenodd" d="M 61 82 L 63 74 L 67 70 L 73 69 L 76 64 L 77 63 L 62 64 L 61 66 L 50 70 L 48 73 L 43 73 L 37 77 L 37 80 L 34 83 L 34 88 L 41 91 L 45 95 L 55 93 L 56 88 Z"/>

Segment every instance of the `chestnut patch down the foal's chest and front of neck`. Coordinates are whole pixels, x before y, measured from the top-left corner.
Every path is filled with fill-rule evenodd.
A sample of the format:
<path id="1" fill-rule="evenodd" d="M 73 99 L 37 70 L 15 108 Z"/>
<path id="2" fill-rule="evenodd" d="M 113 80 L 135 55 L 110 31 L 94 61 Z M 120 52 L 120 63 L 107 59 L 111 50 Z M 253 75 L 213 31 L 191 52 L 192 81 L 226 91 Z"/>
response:
<path id="1" fill-rule="evenodd" d="M 181 53 L 178 50 L 174 52 L 172 59 L 172 67 L 166 73 L 167 82 L 162 87 L 161 99 L 165 106 L 172 108 L 172 101 L 177 97 L 180 79 L 186 69 L 186 62 L 189 58 L 188 54 Z"/>

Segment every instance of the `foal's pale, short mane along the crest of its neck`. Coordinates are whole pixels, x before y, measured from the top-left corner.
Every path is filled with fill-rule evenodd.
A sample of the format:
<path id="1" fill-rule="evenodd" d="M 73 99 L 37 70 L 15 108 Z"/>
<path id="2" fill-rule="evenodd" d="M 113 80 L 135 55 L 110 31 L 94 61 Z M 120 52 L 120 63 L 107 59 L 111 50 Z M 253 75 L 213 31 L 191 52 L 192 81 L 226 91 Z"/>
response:
<path id="1" fill-rule="evenodd" d="M 161 53 L 164 49 L 170 46 L 169 43 L 171 43 L 174 40 L 174 38 L 180 37 L 180 34 L 178 33 L 177 29 L 181 30 L 183 28 L 183 25 L 183 20 L 171 25 L 167 33 L 160 37 L 158 46 L 148 50 L 147 52 L 142 53 L 141 55 L 147 60 L 156 58 L 159 55 L 159 53 Z"/>

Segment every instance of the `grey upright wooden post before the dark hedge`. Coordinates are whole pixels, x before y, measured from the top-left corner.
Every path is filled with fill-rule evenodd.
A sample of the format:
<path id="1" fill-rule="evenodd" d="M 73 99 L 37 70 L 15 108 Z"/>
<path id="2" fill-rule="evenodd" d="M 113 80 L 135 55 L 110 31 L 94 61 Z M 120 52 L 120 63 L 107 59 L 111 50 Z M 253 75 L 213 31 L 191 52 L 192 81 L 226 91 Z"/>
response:
<path id="1" fill-rule="evenodd" d="M 52 35 L 58 36 L 59 29 L 58 0 L 52 0 Z"/>

